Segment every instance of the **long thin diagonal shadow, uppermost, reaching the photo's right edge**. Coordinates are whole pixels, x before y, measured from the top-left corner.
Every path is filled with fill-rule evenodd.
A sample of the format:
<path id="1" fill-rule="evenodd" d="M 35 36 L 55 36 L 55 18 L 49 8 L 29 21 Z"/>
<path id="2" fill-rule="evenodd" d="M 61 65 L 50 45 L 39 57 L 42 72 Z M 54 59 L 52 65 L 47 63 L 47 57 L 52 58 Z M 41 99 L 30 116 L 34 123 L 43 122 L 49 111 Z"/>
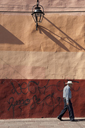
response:
<path id="1" fill-rule="evenodd" d="M 60 30 L 55 24 L 53 24 L 50 20 L 48 20 L 46 17 L 44 17 L 45 20 L 47 20 L 51 25 L 53 25 L 56 29 L 58 29 L 61 33 L 63 33 L 66 38 L 68 39 L 68 41 L 66 41 L 67 43 L 69 43 L 70 45 L 73 46 L 73 43 L 75 43 L 75 45 L 77 46 L 76 49 L 79 50 L 85 50 L 85 48 L 83 48 L 81 45 L 79 45 L 76 41 L 74 41 L 71 37 L 69 37 L 66 33 L 64 33 L 62 30 Z M 75 47 L 75 46 L 73 46 Z M 69 50 L 68 50 L 69 51 Z"/>

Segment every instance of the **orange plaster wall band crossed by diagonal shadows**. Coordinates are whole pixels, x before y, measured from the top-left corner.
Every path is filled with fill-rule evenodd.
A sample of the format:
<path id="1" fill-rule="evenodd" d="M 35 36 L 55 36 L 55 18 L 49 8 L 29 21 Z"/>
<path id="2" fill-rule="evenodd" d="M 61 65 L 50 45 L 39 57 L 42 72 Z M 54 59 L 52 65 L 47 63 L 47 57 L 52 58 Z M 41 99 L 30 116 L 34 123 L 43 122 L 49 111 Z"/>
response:
<path id="1" fill-rule="evenodd" d="M 1 51 L 85 51 L 84 14 L 46 14 L 36 31 L 31 16 L 1 13 L 0 32 Z"/>

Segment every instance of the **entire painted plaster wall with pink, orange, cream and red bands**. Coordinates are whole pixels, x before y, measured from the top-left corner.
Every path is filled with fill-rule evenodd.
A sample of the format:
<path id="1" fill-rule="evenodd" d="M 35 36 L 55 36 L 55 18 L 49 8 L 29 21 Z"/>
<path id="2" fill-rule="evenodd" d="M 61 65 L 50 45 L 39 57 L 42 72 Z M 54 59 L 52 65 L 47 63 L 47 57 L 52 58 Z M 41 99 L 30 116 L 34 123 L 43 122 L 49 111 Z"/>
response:
<path id="1" fill-rule="evenodd" d="M 29 12 L 0 12 L 0 118 L 57 117 L 67 80 L 74 114 L 85 117 L 84 1 L 40 3 L 48 13 L 36 31 L 33 1 L 1 0 L 1 11 Z"/>

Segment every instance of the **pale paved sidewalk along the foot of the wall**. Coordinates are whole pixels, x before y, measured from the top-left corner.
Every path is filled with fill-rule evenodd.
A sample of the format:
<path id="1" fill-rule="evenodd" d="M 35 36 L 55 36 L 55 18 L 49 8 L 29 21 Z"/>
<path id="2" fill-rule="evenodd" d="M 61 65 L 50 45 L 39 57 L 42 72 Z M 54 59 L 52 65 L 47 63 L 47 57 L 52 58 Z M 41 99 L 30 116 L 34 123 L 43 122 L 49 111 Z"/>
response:
<path id="1" fill-rule="evenodd" d="M 85 128 L 85 118 L 69 118 L 59 121 L 57 118 L 31 118 L 0 120 L 0 128 Z"/>

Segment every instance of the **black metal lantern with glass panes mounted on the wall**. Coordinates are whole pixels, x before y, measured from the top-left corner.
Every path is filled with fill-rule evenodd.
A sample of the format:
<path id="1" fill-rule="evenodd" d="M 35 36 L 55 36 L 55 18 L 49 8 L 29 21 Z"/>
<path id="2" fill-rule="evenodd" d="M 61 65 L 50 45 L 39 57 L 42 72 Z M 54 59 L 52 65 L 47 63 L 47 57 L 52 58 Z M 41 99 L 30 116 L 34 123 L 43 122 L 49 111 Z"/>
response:
<path id="1" fill-rule="evenodd" d="M 38 27 L 38 22 L 42 22 L 44 17 L 44 8 L 43 6 L 39 5 L 39 0 L 37 0 L 37 4 L 32 8 L 32 17 L 36 23 L 36 30 Z"/>

